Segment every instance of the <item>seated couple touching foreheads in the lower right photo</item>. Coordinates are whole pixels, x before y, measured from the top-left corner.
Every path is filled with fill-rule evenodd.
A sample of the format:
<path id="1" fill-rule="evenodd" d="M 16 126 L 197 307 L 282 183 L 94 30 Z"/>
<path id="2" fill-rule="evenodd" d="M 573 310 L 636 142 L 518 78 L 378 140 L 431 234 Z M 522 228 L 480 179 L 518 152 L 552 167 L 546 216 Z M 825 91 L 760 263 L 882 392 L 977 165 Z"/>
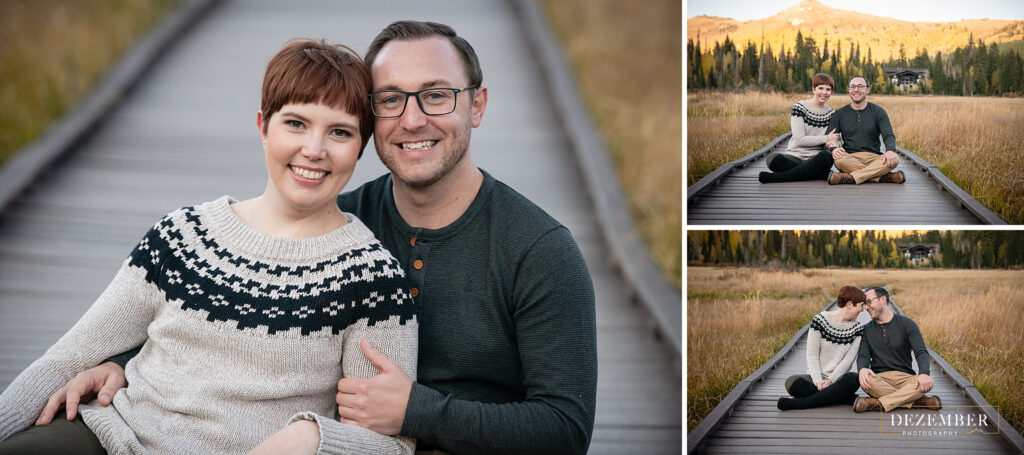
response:
<path id="1" fill-rule="evenodd" d="M 932 389 L 928 347 L 910 318 L 893 313 L 889 291 L 874 287 L 865 293 L 844 286 L 837 308 L 821 312 L 807 331 L 807 373 L 790 376 L 785 389 L 794 398 L 778 399 L 778 409 L 809 409 L 836 404 L 853 405 L 855 412 L 896 408 L 939 410 Z M 871 322 L 857 324 L 867 309 Z M 911 355 L 918 359 L 914 374 Z M 858 373 L 850 372 L 854 359 Z M 857 397 L 863 388 L 871 398 Z"/>

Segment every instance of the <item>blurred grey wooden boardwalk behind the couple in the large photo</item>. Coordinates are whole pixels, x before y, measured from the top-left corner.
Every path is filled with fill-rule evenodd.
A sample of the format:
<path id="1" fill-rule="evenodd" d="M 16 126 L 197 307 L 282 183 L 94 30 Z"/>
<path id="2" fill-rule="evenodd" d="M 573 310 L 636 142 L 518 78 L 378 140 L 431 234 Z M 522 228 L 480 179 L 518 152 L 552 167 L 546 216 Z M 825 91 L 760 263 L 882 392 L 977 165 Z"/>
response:
<path id="1" fill-rule="evenodd" d="M 295 37 L 362 51 L 392 20 L 452 25 L 480 55 L 489 102 L 473 158 L 572 232 L 597 294 L 591 453 L 679 453 L 678 360 L 607 256 L 523 29 L 502 0 L 222 1 L 171 46 L 101 127 L 0 213 L 0 389 L 68 330 L 163 214 L 260 194 L 256 129 L 267 59 Z M 349 188 L 386 172 L 369 146 Z"/>

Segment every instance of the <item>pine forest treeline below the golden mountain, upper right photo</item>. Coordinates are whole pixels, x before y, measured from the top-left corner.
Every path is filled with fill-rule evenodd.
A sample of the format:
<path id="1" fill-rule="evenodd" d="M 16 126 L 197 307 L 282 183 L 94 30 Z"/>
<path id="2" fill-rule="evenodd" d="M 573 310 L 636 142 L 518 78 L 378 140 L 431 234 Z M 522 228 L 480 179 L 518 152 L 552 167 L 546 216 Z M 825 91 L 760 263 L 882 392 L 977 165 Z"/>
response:
<path id="1" fill-rule="evenodd" d="M 934 55 L 919 49 L 915 56 L 908 57 L 901 44 L 899 54 L 886 60 L 872 56 L 870 48 L 862 54 L 860 43 L 843 46 L 825 39 L 819 46 L 802 32 L 797 32 L 792 46 L 783 44 L 779 49 L 751 41 L 739 45 L 726 37 L 714 46 L 701 46 L 699 38 L 695 43 L 689 39 L 686 51 L 689 89 L 807 92 L 814 74 L 826 73 L 836 79 L 840 93 L 846 92 L 843 87 L 849 78 L 859 74 L 876 93 L 1024 94 L 1024 58 L 1020 53 L 999 49 L 996 43 L 975 42 L 974 36 L 966 47 Z M 923 68 L 931 76 L 926 83 L 903 91 L 886 78 L 885 68 Z"/>

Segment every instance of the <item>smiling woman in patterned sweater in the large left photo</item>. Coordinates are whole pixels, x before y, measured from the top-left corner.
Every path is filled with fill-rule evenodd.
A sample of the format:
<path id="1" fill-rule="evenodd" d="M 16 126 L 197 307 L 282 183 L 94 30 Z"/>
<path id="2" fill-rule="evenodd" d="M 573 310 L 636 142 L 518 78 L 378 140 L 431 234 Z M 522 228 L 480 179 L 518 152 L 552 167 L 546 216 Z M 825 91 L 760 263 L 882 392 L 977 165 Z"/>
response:
<path id="1" fill-rule="evenodd" d="M 285 440 L 296 444 L 278 453 L 412 454 L 413 438 L 335 417 L 338 380 L 378 373 L 365 350 L 416 378 L 401 264 L 336 202 L 373 130 L 370 87 L 348 47 L 287 43 L 267 64 L 256 114 L 263 193 L 157 222 L 85 316 L 0 395 L 0 453 L 244 454 Z M 72 409 L 69 379 L 140 344 L 113 406 L 31 426 L 63 400 Z M 311 441 L 290 440 L 296 427 Z"/>

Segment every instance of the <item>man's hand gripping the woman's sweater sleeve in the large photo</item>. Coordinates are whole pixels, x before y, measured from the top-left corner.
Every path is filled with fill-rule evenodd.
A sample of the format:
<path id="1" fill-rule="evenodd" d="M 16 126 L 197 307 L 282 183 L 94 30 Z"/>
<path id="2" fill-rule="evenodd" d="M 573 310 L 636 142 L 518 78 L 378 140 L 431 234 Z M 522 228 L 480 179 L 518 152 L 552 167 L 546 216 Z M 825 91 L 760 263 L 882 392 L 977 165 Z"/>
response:
<path id="1" fill-rule="evenodd" d="M 381 435 L 397 435 L 406 419 L 413 379 L 391 359 L 364 339 L 362 354 L 381 374 L 369 379 L 338 381 L 338 415 L 342 423 L 359 425 Z"/>

